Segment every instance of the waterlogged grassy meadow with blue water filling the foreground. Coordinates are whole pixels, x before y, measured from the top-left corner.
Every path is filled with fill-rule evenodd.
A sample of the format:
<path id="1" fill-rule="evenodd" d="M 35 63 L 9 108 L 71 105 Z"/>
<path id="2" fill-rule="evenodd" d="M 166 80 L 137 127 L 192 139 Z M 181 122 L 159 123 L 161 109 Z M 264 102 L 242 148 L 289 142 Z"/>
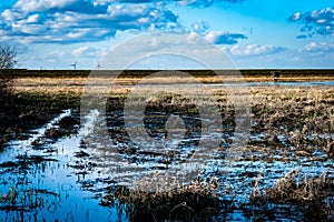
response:
<path id="1" fill-rule="evenodd" d="M 110 92 L 106 115 L 91 109 L 82 117 L 85 83 L 67 82 L 53 89 L 51 82 L 48 87 L 39 81 L 33 90 L 33 78 L 30 84 L 17 80 L 17 100 L 29 98 L 33 105 L 20 109 L 30 128 L 19 131 L 12 124 L 20 124 L 12 121 L 1 131 L 3 221 L 334 219 L 333 82 L 233 87 L 234 97 L 249 95 L 249 134 L 244 143 L 236 139 L 237 113 L 228 88 L 208 83 L 223 119 L 222 130 L 209 138 L 218 145 L 209 157 L 200 157 L 196 163 L 202 170 L 187 181 L 169 169 L 204 149 L 199 108 L 176 93 L 148 100 L 144 123 L 157 141 L 150 145 L 134 142 L 126 130 L 127 87 Z M 173 121 L 176 124 L 167 131 Z M 181 142 L 170 145 L 170 134 L 184 128 Z"/>

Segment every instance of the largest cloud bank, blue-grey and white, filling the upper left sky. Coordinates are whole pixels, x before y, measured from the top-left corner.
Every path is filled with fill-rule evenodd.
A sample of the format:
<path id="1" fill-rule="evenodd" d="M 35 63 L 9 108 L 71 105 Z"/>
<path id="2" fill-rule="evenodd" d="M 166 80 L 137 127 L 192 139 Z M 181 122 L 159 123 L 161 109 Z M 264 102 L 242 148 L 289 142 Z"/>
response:
<path id="1" fill-rule="evenodd" d="M 92 42 L 115 37 L 118 31 L 180 27 L 175 13 L 165 6 L 154 3 L 19 0 L 0 14 L 0 40 L 14 39 L 21 43 Z"/>

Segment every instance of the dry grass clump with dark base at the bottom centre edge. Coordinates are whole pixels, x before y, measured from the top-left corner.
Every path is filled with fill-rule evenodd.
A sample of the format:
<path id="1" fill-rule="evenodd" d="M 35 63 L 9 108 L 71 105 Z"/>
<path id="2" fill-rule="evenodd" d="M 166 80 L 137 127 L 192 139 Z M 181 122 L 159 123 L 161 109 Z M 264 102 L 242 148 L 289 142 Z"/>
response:
<path id="1" fill-rule="evenodd" d="M 218 179 L 198 175 L 188 184 L 180 185 L 177 178 L 156 172 L 151 179 L 139 180 L 134 189 L 109 188 L 102 205 L 117 199 L 131 208 L 132 221 L 184 220 L 194 221 L 208 210 L 222 208 Z"/>

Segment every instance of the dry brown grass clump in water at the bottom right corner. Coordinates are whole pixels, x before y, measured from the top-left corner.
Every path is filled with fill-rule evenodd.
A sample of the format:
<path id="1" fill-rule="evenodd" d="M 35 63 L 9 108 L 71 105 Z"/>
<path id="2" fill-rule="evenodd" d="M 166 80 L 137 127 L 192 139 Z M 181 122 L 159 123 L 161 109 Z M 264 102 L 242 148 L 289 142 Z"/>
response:
<path id="1" fill-rule="evenodd" d="M 317 178 L 302 174 L 298 170 L 292 170 L 283 178 L 277 179 L 272 188 L 261 190 L 259 180 L 255 182 L 250 202 L 256 205 L 295 204 L 304 205 L 304 215 L 308 219 L 333 219 L 333 191 L 334 180 L 323 172 Z"/>

